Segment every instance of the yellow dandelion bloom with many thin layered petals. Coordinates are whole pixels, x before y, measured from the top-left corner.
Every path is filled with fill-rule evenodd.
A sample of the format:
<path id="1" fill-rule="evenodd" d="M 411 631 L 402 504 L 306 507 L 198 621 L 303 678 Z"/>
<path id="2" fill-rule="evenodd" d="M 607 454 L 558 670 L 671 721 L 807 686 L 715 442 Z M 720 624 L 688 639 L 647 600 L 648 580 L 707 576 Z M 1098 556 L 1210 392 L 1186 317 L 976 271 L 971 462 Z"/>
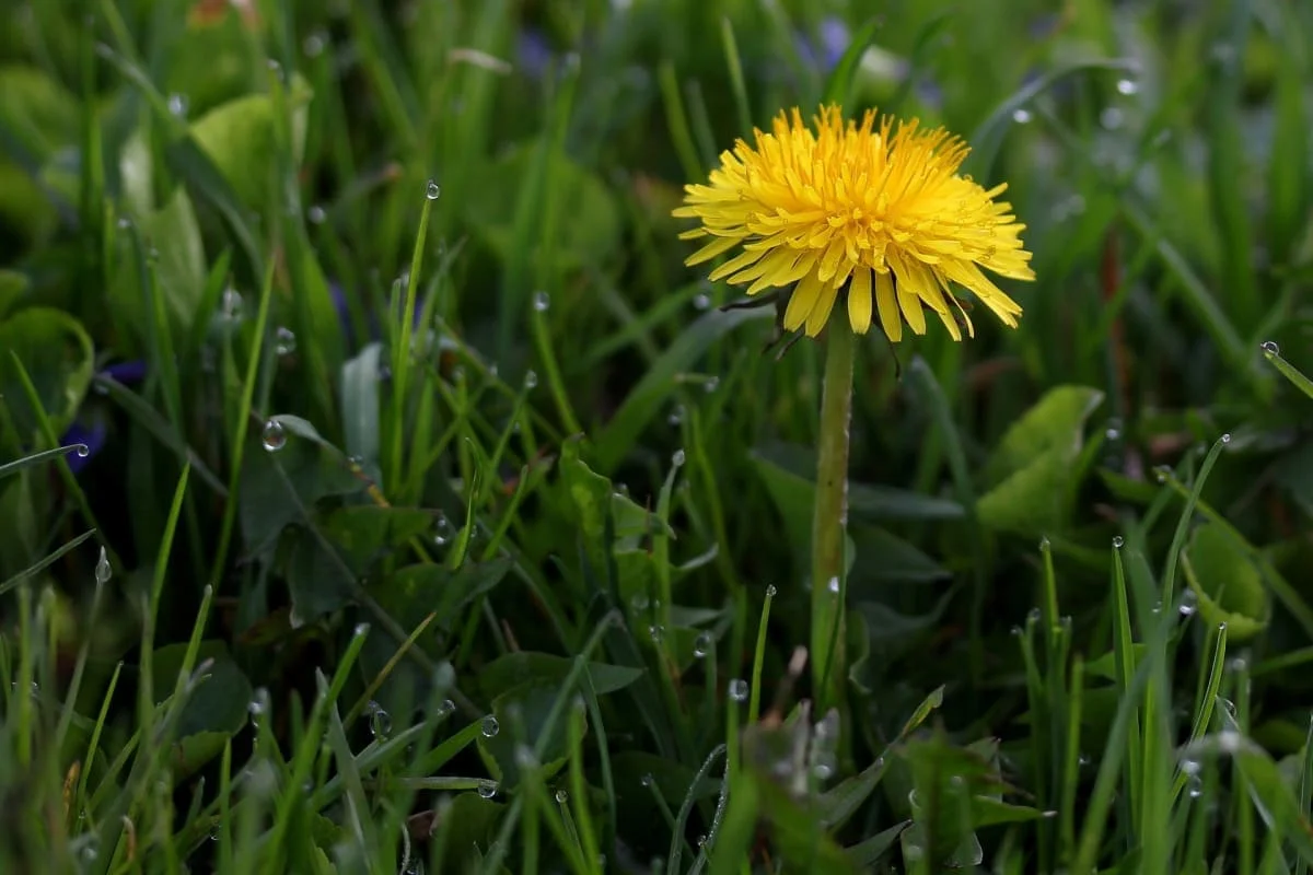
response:
<path id="1" fill-rule="evenodd" d="M 902 337 L 905 320 L 923 335 L 928 306 L 961 340 L 958 316 L 969 335 L 974 329 L 953 283 L 1016 327 L 1022 308 L 981 268 L 1033 279 L 1020 237 L 1025 226 L 1011 205 L 994 199 L 1006 185 L 986 190 L 957 174 L 970 151 L 958 138 L 922 130 L 916 119 L 894 130 L 885 117 L 876 129 L 873 110 L 860 126 L 844 125 L 839 108 L 829 106 L 814 118 L 814 130 L 794 109 L 781 112 L 769 134 L 755 131 L 755 139 L 723 152 L 709 185 L 685 186 L 684 206 L 674 215 L 699 219 L 701 227 L 680 237 L 712 237 L 685 264 L 742 248 L 712 272 L 712 281 L 748 283 L 748 295 L 793 286 L 784 328 L 811 337 L 842 293 L 857 333 L 878 312 L 889 340 Z"/>

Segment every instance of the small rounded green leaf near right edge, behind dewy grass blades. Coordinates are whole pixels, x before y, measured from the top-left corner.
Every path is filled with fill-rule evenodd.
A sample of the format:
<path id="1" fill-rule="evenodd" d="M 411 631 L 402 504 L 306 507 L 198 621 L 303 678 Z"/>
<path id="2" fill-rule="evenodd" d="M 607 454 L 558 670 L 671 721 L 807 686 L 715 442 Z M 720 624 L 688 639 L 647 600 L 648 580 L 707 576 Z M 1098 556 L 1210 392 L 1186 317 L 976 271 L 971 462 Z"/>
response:
<path id="1" fill-rule="evenodd" d="M 1226 529 L 1199 526 L 1180 551 L 1180 567 L 1200 617 L 1211 626 L 1226 623 L 1229 641 L 1249 640 L 1267 628 L 1272 606 L 1262 572 Z"/>

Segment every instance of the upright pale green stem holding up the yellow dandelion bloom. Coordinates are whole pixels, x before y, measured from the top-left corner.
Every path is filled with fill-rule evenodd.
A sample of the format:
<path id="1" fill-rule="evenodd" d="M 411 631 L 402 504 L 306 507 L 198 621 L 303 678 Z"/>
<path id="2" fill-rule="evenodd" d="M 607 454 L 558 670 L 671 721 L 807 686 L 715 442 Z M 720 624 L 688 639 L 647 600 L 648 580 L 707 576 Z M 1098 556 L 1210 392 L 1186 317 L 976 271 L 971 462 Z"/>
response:
<path id="1" fill-rule="evenodd" d="M 843 547 L 848 525 L 848 426 L 856 349 L 856 338 L 843 314 L 830 321 L 827 335 L 811 519 L 811 677 L 818 715 L 840 703 L 846 674 Z M 838 581 L 838 593 L 831 581 Z"/>

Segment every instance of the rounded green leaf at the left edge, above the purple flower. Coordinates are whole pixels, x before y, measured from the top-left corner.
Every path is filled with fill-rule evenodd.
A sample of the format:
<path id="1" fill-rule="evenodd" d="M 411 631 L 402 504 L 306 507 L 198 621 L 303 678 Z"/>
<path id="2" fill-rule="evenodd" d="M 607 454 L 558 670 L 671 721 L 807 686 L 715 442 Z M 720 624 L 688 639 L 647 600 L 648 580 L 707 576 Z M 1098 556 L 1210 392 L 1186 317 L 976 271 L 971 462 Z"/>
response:
<path id="1" fill-rule="evenodd" d="M 63 434 L 91 386 L 91 337 L 76 319 L 47 307 L 20 310 L 0 321 L 0 397 L 26 442 L 37 434 L 38 412 L 28 401 L 14 357 L 32 379 L 51 428 Z"/>

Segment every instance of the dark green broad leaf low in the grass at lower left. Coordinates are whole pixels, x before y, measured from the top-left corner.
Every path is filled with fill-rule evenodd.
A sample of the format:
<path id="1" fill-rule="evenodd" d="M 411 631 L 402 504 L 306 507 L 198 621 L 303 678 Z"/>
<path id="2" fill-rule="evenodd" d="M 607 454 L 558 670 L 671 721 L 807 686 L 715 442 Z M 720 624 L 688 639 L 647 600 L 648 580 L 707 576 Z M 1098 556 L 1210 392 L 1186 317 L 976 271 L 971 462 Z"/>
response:
<path id="1" fill-rule="evenodd" d="M 185 643 L 169 644 L 151 653 L 156 704 L 173 694 L 186 648 Z M 214 664 L 206 672 L 206 680 L 184 703 L 177 740 L 169 752 L 175 784 L 222 753 L 227 740 L 247 724 L 251 682 L 232 661 L 223 641 L 201 641 L 197 665 L 205 660 L 214 660 Z"/>

